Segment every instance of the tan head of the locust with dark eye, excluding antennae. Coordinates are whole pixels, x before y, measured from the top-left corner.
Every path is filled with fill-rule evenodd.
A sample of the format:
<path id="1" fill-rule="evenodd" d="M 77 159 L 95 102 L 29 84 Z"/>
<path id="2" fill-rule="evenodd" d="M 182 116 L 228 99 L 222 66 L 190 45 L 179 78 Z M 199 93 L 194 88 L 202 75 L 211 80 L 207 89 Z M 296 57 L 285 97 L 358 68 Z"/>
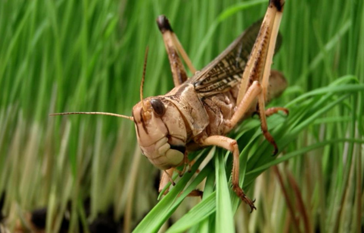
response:
<path id="1" fill-rule="evenodd" d="M 178 166 L 184 160 L 187 139 L 180 112 L 163 97 L 142 101 L 133 107 L 132 115 L 143 154 L 159 169 Z"/>

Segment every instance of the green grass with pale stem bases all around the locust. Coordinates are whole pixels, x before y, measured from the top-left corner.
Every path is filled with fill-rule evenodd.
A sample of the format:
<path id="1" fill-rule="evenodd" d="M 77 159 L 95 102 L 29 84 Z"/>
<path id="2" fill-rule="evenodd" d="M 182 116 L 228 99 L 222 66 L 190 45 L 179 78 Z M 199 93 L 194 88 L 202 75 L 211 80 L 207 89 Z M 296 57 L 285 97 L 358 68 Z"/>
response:
<path id="1" fill-rule="evenodd" d="M 151 177 L 158 171 L 141 157 L 132 123 L 48 114 L 129 115 L 139 101 L 147 46 L 144 95 L 170 90 L 169 64 L 155 23 L 160 14 L 169 18 L 201 69 L 265 10 L 265 1 L 1 1 L 0 191 L 6 191 L 10 227 L 25 212 L 48 206 L 47 227 L 56 230 L 68 201 L 71 231 L 78 229 L 78 219 L 87 222 L 110 205 L 115 219 L 124 218 L 124 229 L 135 227 L 157 203 Z M 288 106 L 290 116 L 275 115 L 268 122 L 283 155 L 270 157 L 256 119 L 231 134 L 239 141 L 241 169 L 247 172 L 241 175 L 243 186 L 257 199 L 255 213 L 238 207 L 234 193 L 215 198 L 230 190 L 221 177 L 229 181 L 231 171 L 231 156 L 216 149 L 216 158 L 189 186 L 194 189 L 207 176 L 202 202 L 183 201 L 188 190 L 177 197 L 193 175 L 186 174 L 135 231 L 156 231 L 170 216 L 172 222 L 179 219 L 170 232 L 217 231 L 229 216 L 235 216 L 235 222 L 228 222 L 237 231 L 359 229 L 364 221 L 363 12 L 362 1 L 286 2 L 280 29 L 284 40 L 274 68 L 285 74 L 290 87 L 271 105 Z M 279 186 L 277 170 L 269 169 L 254 182 L 278 162 L 285 188 Z M 85 219 L 87 197 L 91 215 Z M 228 214 L 224 204 L 230 202 Z"/>

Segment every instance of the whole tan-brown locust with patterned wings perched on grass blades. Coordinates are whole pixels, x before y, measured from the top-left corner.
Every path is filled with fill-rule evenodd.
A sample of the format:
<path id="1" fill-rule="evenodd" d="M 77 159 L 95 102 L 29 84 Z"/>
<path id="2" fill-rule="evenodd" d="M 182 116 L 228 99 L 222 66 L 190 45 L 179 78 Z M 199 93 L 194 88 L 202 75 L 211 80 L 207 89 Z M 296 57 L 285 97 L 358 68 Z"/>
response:
<path id="1" fill-rule="evenodd" d="M 201 70 L 195 69 L 168 19 L 161 15 L 157 18 L 157 24 L 163 36 L 175 86 L 170 92 L 143 98 L 147 49 L 140 88 L 141 101 L 132 108 L 131 117 L 108 112 L 51 115 L 104 114 L 133 121 L 142 153 L 155 167 L 165 171 L 160 190 L 166 179 L 171 180 L 176 167 L 184 165 L 181 173 L 185 172 L 190 163 L 188 152 L 207 146 L 230 150 L 233 153 L 233 190 L 253 211 L 256 209 L 254 201 L 239 186 L 237 141 L 226 134 L 256 112 L 265 139 L 274 147 L 273 154 L 278 153 L 278 146 L 268 131 L 266 117 L 278 111 L 288 114 L 288 109 L 265 109 L 265 104 L 287 87 L 284 75 L 270 68 L 277 50 L 276 44 L 280 44 L 278 29 L 284 2 L 270 0 L 264 18 L 247 28 Z M 193 73 L 192 77 L 188 78 L 181 58 Z"/>

